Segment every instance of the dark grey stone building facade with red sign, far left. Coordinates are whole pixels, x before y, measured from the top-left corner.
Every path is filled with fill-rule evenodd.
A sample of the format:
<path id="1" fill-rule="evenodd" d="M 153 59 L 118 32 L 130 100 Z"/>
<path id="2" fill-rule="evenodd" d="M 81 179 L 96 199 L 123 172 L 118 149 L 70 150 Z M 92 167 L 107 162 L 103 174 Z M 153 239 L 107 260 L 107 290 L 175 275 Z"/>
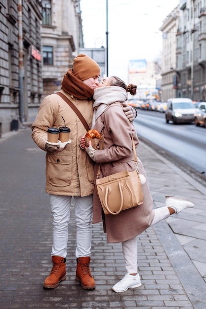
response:
<path id="1" fill-rule="evenodd" d="M 0 135 L 30 120 L 42 95 L 41 4 L 0 3 Z"/>

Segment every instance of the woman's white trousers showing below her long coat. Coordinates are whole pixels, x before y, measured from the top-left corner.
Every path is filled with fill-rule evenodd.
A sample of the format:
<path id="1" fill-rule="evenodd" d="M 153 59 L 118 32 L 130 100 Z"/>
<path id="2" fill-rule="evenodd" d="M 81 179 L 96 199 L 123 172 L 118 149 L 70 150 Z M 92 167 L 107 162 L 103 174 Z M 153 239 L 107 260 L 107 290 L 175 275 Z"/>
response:
<path id="1" fill-rule="evenodd" d="M 155 216 L 150 225 L 166 219 L 169 217 L 169 210 L 167 206 L 154 209 Z M 122 242 L 124 263 L 127 273 L 137 273 L 137 236 Z"/>

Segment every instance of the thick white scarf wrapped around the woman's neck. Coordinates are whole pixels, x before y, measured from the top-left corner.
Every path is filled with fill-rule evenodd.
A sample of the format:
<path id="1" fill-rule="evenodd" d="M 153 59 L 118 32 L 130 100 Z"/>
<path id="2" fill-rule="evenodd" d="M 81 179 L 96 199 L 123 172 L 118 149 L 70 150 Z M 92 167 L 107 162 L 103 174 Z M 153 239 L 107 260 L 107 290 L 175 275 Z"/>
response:
<path id="1" fill-rule="evenodd" d="M 96 119 L 104 113 L 108 105 L 117 101 L 125 102 L 127 97 L 126 90 L 119 86 L 105 86 L 94 89 L 93 99 L 95 101 L 91 128 L 93 129 Z"/>

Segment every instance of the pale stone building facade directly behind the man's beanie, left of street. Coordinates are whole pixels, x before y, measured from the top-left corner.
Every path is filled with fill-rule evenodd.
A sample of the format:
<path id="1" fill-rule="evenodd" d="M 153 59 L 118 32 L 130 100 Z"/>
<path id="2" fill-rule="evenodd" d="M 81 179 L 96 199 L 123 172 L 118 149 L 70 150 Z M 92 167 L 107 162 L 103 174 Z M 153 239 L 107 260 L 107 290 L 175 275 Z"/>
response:
<path id="1" fill-rule="evenodd" d="M 60 89 L 64 74 L 83 47 L 80 0 L 42 0 L 43 96 Z"/>

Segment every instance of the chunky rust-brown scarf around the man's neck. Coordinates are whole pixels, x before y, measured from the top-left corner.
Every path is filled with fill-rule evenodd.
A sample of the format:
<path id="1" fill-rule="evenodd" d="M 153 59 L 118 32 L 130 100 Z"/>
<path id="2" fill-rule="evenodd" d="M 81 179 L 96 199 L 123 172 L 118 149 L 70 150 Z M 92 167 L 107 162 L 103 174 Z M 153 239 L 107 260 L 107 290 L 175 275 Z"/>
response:
<path id="1" fill-rule="evenodd" d="M 72 68 L 64 75 L 61 88 L 78 99 L 89 99 L 94 93 L 93 89 L 74 75 Z"/>

